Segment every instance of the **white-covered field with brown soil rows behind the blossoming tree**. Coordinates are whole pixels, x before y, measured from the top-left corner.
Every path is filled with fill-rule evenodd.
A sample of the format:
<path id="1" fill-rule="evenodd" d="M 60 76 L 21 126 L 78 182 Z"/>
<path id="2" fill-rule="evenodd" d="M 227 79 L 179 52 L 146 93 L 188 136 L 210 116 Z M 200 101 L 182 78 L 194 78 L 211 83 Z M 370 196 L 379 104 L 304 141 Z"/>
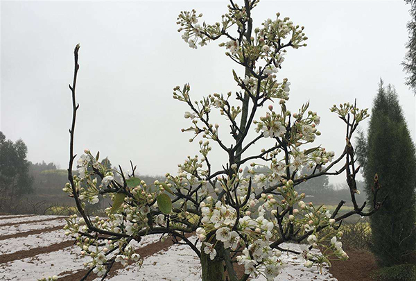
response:
<path id="1" fill-rule="evenodd" d="M 58 275 L 59 280 L 80 280 L 85 274 L 83 263 L 73 239 L 64 235 L 62 216 L 0 216 L 0 280 L 29 281 Z M 116 264 L 107 280 L 200 280 L 200 264 L 193 251 L 184 245 L 173 245 L 169 239 L 159 241 L 159 235 L 149 235 L 137 244 L 144 264 L 121 266 Z M 191 239 L 195 239 L 191 237 Z M 296 248 L 296 245 L 284 245 Z M 288 264 L 276 280 L 337 281 L 328 269 L 320 275 L 317 269 L 306 269 L 297 255 L 284 254 Z M 101 278 L 92 275 L 88 280 Z M 256 279 L 266 278 L 259 276 Z"/>

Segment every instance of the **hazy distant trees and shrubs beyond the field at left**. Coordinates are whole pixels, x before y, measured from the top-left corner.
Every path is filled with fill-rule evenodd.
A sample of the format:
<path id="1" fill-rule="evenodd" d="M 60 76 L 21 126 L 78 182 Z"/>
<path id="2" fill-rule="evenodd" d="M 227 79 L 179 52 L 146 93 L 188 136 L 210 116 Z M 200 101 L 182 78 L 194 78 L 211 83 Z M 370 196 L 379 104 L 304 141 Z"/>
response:
<path id="1" fill-rule="evenodd" d="M 68 171 L 59 169 L 53 162 L 33 163 L 27 160 L 28 148 L 22 139 L 12 142 L 0 132 L 0 212 L 44 214 L 51 206 L 71 206 L 73 199 L 62 191 L 68 182 Z M 112 167 L 108 157 L 101 160 L 108 169 Z M 77 174 L 77 171 L 73 171 Z M 162 180 L 158 176 L 139 176 L 146 183 Z M 97 178 L 98 185 L 101 178 Z M 89 211 L 108 207 L 110 202 L 101 200 L 89 206 Z"/>

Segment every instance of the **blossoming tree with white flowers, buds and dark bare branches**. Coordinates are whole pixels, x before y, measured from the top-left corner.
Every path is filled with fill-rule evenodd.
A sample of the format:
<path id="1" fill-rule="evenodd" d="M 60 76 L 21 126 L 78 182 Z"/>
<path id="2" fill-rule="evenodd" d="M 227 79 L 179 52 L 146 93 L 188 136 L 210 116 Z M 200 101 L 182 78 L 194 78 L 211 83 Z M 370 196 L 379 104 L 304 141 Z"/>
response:
<path id="1" fill-rule="evenodd" d="M 235 94 L 212 94 L 201 101 L 191 99 L 191 87 L 175 87 L 173 98 L 187 105 L 184 117 L 191 121 L 182 129 L 198 140 L 200 155 L 188 156 L 179 164 L 178 173 L 167 173 L 164 182 L 147 185 L 135 175 L 135 167 L 126 172 L 121 167 L 114 170 L 105 167 L 91 151 L 85 150 L 76 164 L 78 173 L 73 175 L 74 130 L 79 105 L 76 103 L 76 79 L 78 75 L 77 45 L 74 51 L 75 69 L 72 94 L 73 118 L 70 129 L 69 183 L 64 191 L 73 196 L 80 217 L 67 219 L 67 235 L 76 238 L 81 255 L 91 257 L 85 266 L 104 280 L 112 265 L 119 262 L 137 262 L 142 259 L 135 252 L 132 241 L 140 242 L 146 235 L 161 235 L 175 243 L 187 244 L 200 257 L 202 280 L 248 280 L 264 275 L 274 280 L 284 266 L 280 256 L 284 252 L 297 253 L 282 246 L 284 242 L 301 243 L 304 266 L 331 265 L 333 259 L 347 259 L 342 248 L 342 232 L 338 229 L 343 219 L 359 214 L 369 216 L 383 204 L 377 201 L 376 188 L 370 211 L 366 203 L 356 203 L 356 174 L 354 148 L 350 142 L 358 124 L 368 117 L 367 110 L 354 104 L 333 105 L 346 126 L 346 144 L 338 157 L 322 146 L 313 146 L 320 135 L 317 126 L 320 117 L 309 110 L 306 103 L 295 112 L 288 110 L 290 83 L 278 78 L 289 48 L 306 46 L 304 27 L 293 24 L 288 17 L 277 13 L 275 19 L 267 19 L 261 27 L 252 26 L 252 9 L 258 0 L 245 0 L 242 6 L 231 1 L 220 22 L 200 23 L 202 14 L 195 10 L 180 12 L 177 24 L 182 38 L 193 49 L 211 41 L 223 40 L 228 59 L 244 71 L 234 80 L 239 87 Z M 273 107 L 272 102 L 277 101 Z M 266 114 L 259 116 L 261 108 Z M 223 124 L 211 124 L 210 116 L 219 112 Z M 232 142 L 221 137 L 221 129 L 229 128 Z M 255 137 L 248 137 L 250 135 Z M 225 132 L 221 132 L 225 134 Z M 264 139 L 267 147 L 256 142 Z M 227 153 L 222 168 L 214 171 L 210 161 L 212 147 Z M 247 155 L 247 151 L 258 153 Z M 340 169 L 333 167 L 340 163 Z M 343 164 L 345 163 L 345 164 Z M 343 165 L 342 165 L 343 164 Z M 267 172 L 256 173 L 243 167 L 263 166 Z M 342 166 L 342 167 L 341 167 Z M 312 173 L 302 175 L 302 167 Z M 346 173 L 354 210 L 338 214 L 345 201 L 341 201 L 331 214 L 325 207 L 305 203 L 305 194 L 297 192 L 297 185 L 323 175 Z M 102 179 L 97 184 L 96 177 Z M 99 196 L 112 200 L 105 210 L 105 217 L 91 217 L 85 212 L 86 203 L 95 204 Z M 328 235 L 318 235 L 327 228 Z M 190 235 L 198 239 L 193 242 Z M 313 250 L 313 249 L 320 249 Z M 234 264 L 244 267 L 244 275 L 237 276 Z M 85 280 L 85 278 L 83 280 Z"/>

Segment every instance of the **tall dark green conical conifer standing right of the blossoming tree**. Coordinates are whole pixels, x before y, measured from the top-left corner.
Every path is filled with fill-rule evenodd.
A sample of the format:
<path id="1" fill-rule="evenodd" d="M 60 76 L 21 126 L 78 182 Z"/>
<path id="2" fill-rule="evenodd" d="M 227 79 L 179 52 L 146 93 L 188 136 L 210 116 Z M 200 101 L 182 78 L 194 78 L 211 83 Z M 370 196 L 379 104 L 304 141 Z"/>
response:
<path id="1" fill-rule="evenodd" d="M 367 138 L 361 134 L 357 154 L 364 167 L 368 200 L 373 200 L 374 193 L 388 195 L 380 212 L 370 217 L 373 253 L 381 266 L 415 262 L 415 146 L 395 87 L 385 87 L 382 80 Z M 374 187 L 374 178 L 379 188 Z"/>

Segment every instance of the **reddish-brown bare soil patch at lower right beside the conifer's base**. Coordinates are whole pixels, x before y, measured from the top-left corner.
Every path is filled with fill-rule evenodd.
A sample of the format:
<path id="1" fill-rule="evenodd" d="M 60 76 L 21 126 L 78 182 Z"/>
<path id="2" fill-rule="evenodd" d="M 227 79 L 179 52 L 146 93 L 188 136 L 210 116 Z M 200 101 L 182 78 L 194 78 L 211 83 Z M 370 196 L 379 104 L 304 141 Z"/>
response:
<path id="1" fill-rule="evenodd" d="M 338 281 L 374 281 L 370 277 L 377 269 L 376 260 L 372 253 L 359 250 L 346 250 L 349 259 L 333 261 L 329 272 Z"/>

